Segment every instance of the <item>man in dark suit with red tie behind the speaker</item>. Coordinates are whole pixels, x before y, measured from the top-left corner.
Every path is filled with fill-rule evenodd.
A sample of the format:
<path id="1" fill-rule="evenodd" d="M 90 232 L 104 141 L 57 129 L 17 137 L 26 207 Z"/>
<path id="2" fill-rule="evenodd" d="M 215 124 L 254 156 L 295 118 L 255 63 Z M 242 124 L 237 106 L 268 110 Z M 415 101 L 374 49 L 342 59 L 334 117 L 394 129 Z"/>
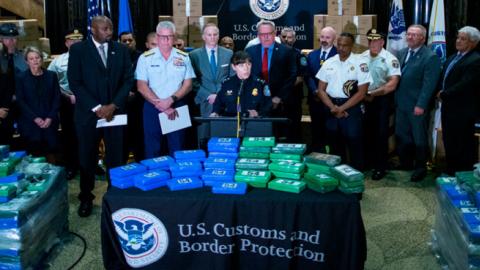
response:
<path id="1" fill-rule="evenodd" d="M 285 102 L 290 98 L 297 79 L 296 58 L 292 48 L 275 42 L 275 23 L 262 20 L 257 23 L 260 44 L 248 47 L 252 57 L 252 74 L 267 83 L 266 92 L 272 97 L 272 116 L 286 117 Z M 277 135 L 286 136 L 288 127 Z"/>

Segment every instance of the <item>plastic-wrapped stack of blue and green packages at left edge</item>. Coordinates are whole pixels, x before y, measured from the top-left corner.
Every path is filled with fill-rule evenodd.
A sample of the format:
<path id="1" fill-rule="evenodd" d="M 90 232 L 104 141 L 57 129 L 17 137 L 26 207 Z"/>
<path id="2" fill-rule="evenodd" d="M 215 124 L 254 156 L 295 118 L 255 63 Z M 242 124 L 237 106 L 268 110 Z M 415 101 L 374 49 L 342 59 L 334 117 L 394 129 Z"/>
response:
<path id="1" fill-rule="evenodd" d="M 68 232 L 63 171 L 25 152 L 0 152 L 0 269 L 38 268 Z M 13 166 L 13 169 L 10 169 Z"/>

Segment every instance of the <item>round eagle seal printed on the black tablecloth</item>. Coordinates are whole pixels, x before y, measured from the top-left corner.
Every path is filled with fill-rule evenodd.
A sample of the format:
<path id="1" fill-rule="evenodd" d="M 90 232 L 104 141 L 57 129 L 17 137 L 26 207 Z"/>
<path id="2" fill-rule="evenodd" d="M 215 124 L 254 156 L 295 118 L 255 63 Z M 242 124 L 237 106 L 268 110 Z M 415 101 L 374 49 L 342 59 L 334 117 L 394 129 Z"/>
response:
<path id="1" fill-rule="evenodd" d="M 163 223 L 147 211 L 122 208 L 112 214 L 115 231 L 127 263 L 143 267 L 163 257 L 168 234 Z"/>

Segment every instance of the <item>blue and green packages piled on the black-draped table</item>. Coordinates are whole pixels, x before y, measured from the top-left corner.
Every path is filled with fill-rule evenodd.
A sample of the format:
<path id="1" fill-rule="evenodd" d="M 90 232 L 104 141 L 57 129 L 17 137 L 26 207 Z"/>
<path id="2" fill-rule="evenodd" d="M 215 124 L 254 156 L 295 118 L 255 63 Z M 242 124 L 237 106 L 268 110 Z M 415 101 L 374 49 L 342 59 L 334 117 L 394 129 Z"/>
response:
<path id="1" fill-rule="evenodd" d="M 240 143 L 241 142 L 241 143 Z M 340 157 L 310 153 L 305 144 L 275 143 L 274 137 L 218 138 L 208 141 L 208 158 L 203 150 L 176 151 L 110 170 L 112 185 L 150 190 L 211 187 L 213 193 L 245 194 L 247 186 L 300 193 L 310 188 L 320 193 L 337 188 L 344 193 L 361 193 L 364 175 Z"/>

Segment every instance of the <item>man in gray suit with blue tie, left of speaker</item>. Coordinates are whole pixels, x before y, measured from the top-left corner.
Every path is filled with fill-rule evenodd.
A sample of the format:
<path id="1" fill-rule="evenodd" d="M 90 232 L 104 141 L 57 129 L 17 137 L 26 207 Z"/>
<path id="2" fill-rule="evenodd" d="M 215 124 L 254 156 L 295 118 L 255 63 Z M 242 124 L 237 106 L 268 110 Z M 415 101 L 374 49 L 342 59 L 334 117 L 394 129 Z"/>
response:
<path id="1" fill-rule="evenodd" d="M 203 27 L 202 39 L 204 47 L 193 50 L 190 59 L 196 78 L 193 81 L 193 90 L 197 93 L 195 103 L 200 106 L 202 117 L 208 117 L 212 113 L 212 106 L 220 91 L 222 81 L 229 74 L 230 59 L 233 52 L 218 46 L 219 30 L 215 24 L 209 23 Z M 202 124 L 198 128 L 199 145 L 205 145 L 210 137 L 208 124 Z"/>

